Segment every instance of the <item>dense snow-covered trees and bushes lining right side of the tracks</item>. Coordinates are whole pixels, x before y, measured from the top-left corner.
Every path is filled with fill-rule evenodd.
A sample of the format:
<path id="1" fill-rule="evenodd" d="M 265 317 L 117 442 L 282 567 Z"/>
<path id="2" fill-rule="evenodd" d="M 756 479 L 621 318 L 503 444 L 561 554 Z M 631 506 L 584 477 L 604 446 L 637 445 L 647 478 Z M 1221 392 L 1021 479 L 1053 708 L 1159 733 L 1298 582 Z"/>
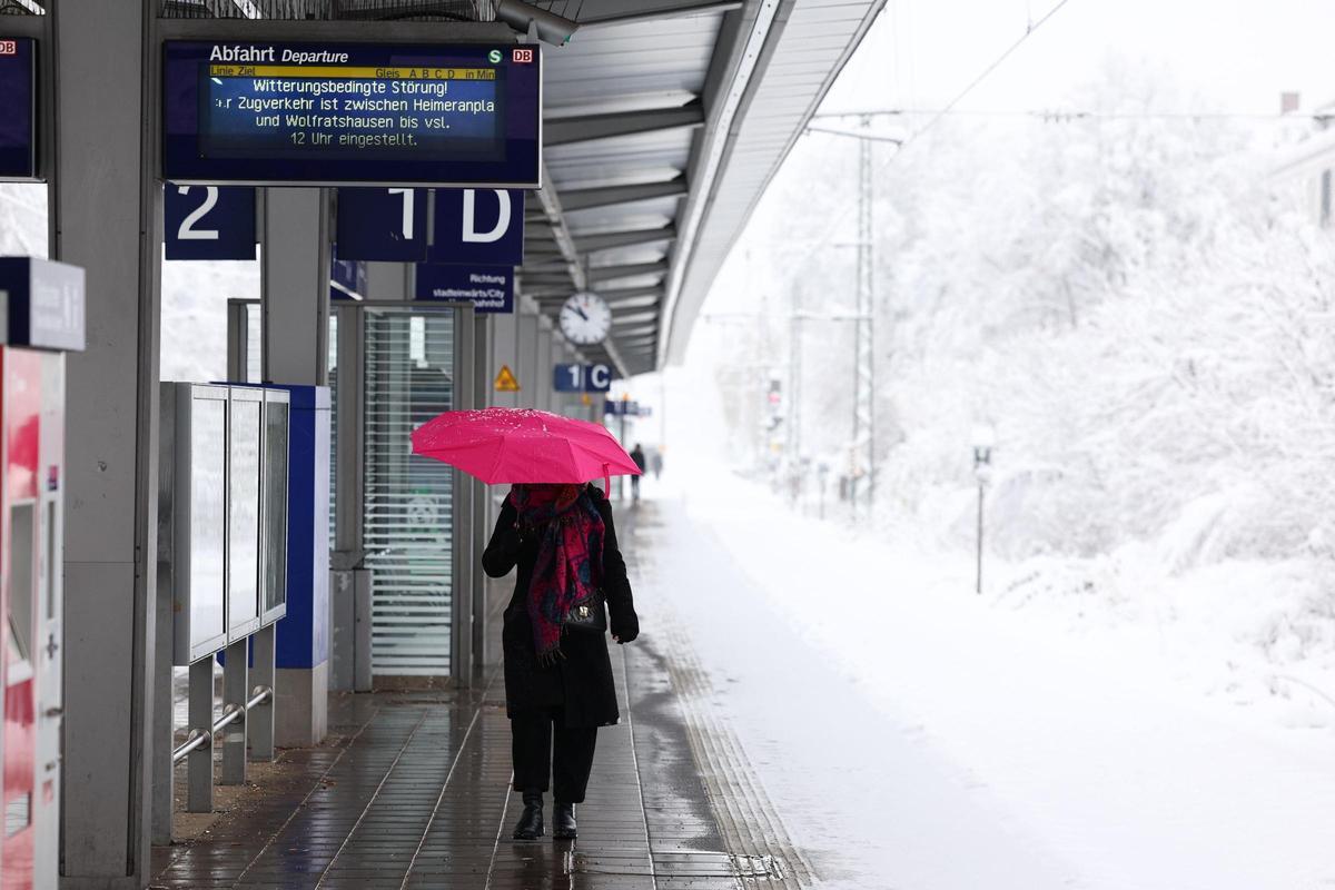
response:
<path id="1" fill-rule="evenodd" d="M 1155 113 L 1192 104 L 1161 71 L 1111 63 L 1072 96 L 1088 115 L 947 117 L 898 156 L 877 148 L 888 534 L 972 542 L 969 434 L 987 423 L 1000 554 L 1157 540 L 1180 571 L 1335 542 L 1332 240 L 1270 180 L 1280 128 Z M 853 152 L 794 156 L 781 221 L 749 244 L 796 244 L 821 212 L 840 228 L 773 250 L 757 290 L 814 278 L 836 287 L 808 306 L 850 304 Z M 813 356 L 846 356 L 850 331 L 801 336 L 802 440 L 837 451 L 849 379 Z"/>

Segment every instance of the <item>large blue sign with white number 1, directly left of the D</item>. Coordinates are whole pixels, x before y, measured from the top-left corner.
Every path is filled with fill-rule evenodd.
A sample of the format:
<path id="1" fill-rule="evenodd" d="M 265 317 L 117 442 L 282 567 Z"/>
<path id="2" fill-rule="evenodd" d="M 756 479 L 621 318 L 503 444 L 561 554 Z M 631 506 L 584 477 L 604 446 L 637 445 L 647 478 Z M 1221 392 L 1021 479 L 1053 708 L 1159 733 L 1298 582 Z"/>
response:
<path id="1" fill-rule="evenodd" d="M 338 251 L 346 260 L 426 259 L 425 188 L 338 189 Z"/>

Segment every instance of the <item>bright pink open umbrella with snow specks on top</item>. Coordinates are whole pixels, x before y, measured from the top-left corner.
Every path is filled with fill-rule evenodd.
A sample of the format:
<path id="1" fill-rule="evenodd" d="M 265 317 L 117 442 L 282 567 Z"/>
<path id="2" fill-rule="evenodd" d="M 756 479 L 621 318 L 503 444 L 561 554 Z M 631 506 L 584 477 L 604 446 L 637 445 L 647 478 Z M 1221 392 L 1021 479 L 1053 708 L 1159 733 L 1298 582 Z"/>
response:
<path id="1" fill-rule="evenodd" d="M 487 484 L 639 475 L 602 424 L 531 408 L 446 411 L 413 431 L 413 454 L 435 458 Z"/>

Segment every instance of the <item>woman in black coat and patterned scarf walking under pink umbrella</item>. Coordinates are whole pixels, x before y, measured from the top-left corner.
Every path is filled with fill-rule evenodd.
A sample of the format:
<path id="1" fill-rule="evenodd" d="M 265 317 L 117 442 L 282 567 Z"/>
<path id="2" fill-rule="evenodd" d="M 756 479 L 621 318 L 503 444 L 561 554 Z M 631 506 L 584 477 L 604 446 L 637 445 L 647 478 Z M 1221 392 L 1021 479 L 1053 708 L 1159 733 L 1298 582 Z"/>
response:
<path id="1" fill-rule="evenodd" d="M 603 492 L 591 484 L 514 486 L 482 567 L 501 578 L 515 566 L 501 634 L 514 790 L 523 794 L 514 837 L 542 837 L 542 795 L 550 778 L 553 837 L 569 839 L 575 837 L 575 805 L 585 799 L 598 727 L 619 719 L 606 628 L 610 623 L 618 643 L 639 635 Z"/>

